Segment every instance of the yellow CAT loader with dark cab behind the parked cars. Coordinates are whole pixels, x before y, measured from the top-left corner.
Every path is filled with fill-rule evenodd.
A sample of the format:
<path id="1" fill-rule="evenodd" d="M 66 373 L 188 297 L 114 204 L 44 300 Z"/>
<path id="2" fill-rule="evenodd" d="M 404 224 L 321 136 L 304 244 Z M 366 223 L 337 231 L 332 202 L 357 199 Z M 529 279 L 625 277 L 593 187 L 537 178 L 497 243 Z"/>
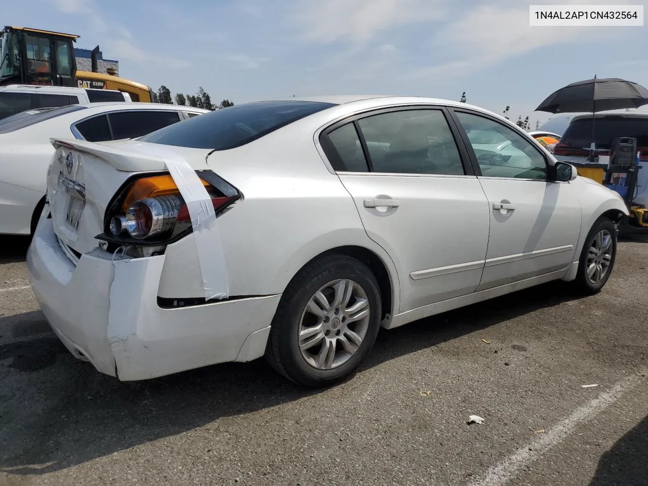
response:
<path id="1" fill-rule="evenodd" d="M 0 86 L 40 84 L 117 89 L 133 101 L 151 102 L 153 90 L 128 79 L 98 73 L 99 47 L 92 51 L 92 71 L 77 71 L 74 34 L 27 27 L 0 30 Z"/>

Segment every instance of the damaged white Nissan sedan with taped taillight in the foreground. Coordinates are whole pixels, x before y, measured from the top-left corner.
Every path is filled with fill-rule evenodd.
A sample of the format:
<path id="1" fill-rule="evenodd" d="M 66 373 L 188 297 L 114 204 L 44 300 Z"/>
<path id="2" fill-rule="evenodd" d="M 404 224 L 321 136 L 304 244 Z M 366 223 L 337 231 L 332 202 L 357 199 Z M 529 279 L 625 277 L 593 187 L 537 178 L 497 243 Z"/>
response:
<path id="1" fill-rule="evenodd" d="M 432 98 L 257 102 L 52 143 L 30 281 L 67 348 L 120 380 L 265 354 L 332 384 L 381 326 L 557 279 L 597 292 L 628 214 L 511 122 Z"/>

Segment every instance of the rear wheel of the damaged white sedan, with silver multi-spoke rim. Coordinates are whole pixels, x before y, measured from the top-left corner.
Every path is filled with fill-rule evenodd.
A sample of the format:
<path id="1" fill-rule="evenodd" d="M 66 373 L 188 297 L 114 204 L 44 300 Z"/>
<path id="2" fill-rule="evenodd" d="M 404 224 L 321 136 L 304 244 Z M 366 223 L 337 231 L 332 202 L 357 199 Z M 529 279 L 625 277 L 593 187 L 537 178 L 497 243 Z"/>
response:
<path id="1" fill-rule="evenodd" d="M 266 359 L 296 384 L 336 384 L 369 353 L 380 316 L 380 287 L 364 263 L 345 255 L 315 260 L 279 301 Z"/>

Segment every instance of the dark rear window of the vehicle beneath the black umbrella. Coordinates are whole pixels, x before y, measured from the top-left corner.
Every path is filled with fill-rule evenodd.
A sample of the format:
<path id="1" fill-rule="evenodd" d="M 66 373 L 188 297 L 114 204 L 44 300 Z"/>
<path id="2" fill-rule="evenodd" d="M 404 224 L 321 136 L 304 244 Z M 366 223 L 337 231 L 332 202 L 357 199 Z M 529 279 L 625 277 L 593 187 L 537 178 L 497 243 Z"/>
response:
<path id="1" fill-rule="evenodd" d="M 648 147 L 648 118 L 605 117 L 594 122 L 596 148 L 610 149 L 614 139 L 632 137 L 638 147 Z M 588 148 L 592 143 L 592 119 L 572 120 L 561 137 L 570 148 Z"/>

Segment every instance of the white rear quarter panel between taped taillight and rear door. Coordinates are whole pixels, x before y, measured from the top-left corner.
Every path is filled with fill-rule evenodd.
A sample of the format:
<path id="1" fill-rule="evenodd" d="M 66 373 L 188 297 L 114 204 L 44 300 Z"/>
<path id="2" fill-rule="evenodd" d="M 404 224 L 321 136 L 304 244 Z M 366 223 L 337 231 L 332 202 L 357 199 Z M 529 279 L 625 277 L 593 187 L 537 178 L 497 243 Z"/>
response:
<path id="1" fill-rule="evenodd" d="M 308 261 L 348 245 L 376 253 L 397 289 L 393 262 L 365 233 L 353 198 L 323 163 L 312 132 L 271 135 L 207 160 L 244 196 L 218 217 L 230 295 L 281 294 Z M 168 246 L 166 255 L 159 295 L 202 295 L 192 235 Z M 194 275 L 179 283 L 178 272 L 192 267 Z M 397 305 L 398 295 L 392 298 Z"/>

